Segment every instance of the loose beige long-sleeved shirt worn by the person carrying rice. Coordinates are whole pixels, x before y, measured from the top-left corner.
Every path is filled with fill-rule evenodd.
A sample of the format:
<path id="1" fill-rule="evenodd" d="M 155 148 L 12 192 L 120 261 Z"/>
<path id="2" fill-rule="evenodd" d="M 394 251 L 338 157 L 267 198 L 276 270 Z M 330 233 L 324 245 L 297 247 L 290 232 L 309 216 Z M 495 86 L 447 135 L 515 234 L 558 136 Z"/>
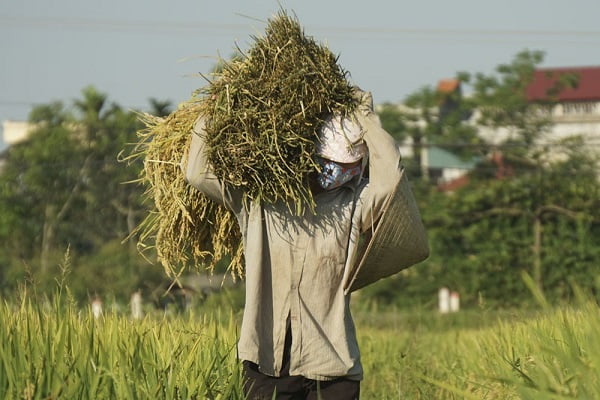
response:
<path id="1" fill-rule="evenodd" d="M 241 193 L 211 172 L 202 121 L 194 128 L 186 179 L 237 217 L 246 262 L 238 354 L 264 374 L 279 376 L 289 324 L 290 375 L 362 379 L 350 294 L 344 287 L 361 231 L 371 227 L 400 179 L 400 153 L 374 112 L 363 110 L 358 118 L 369 148 L 369 179 L 317 194 L 316 213 L 300 217 L 284 204 L 244 207 Z"/>

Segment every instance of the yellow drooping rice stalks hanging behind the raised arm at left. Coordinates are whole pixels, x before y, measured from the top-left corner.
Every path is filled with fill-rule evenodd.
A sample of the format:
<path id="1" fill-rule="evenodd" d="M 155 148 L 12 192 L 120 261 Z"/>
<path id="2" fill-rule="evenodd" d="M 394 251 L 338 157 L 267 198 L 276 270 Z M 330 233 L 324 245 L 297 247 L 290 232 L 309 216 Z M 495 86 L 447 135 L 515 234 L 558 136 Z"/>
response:
<path id="1" fill-rule="evenodd" d="M 142 251 L 154 247 L 169 276 L 190 264 L 212 269 L 231 256 L 230 270 L 242 274 L 242 247 L 235 217 L 187 184 L 180 163 L 187 157 L 198 102 L 190 100 L 166 118 L 142 115 L 138 155 L 144 158 L 142 180 L 154 202 L 138 227 Z M 154 246 L 148 245 L 154 243 Z"/>

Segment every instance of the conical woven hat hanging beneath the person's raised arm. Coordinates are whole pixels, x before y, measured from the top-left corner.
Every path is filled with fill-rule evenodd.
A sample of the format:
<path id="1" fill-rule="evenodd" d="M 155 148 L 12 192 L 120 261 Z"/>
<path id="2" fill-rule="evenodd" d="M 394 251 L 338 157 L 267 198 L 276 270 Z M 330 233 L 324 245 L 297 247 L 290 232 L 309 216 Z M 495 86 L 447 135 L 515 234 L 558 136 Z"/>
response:
<path id="1" fill-rule="evenodd" d="M 425 260 L 427 234 L 404 170 L 346 285 L 353 292 Z"/>

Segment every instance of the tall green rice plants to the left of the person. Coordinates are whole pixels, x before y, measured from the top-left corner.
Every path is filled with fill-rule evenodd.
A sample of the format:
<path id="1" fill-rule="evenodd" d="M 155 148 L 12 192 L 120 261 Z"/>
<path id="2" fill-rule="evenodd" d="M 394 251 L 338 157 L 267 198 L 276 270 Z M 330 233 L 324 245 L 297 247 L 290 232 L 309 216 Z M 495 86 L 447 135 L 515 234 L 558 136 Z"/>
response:
<path id="1" fill-rule="evenodd" d="M 0 305 L 2 399 L 241 399 L 236 327 Z"/>

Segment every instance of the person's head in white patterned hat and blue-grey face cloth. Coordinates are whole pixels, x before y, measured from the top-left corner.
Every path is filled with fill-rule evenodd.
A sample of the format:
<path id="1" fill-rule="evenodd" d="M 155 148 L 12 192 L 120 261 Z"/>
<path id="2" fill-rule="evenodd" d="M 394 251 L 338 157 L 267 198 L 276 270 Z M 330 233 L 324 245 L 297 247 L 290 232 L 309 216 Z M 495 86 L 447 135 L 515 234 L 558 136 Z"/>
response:
<path id="1" fill-rule="evenodd" d="M 340 116 L 327 120 L 319 131 L 317 155 L 321 172 L 317 177 L 323 189 L 334 189 L 362 171 L 368 154 L 361 126 Z"/>

